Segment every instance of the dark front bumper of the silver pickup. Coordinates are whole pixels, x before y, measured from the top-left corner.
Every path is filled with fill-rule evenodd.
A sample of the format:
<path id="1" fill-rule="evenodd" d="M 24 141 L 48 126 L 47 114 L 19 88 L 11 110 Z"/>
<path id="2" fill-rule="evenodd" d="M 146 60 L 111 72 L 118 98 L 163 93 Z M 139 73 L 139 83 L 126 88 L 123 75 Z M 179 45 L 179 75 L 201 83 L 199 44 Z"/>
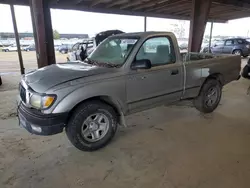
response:
<path id="1" fill-rule="evenodd" d="M 18 106 L 19 125 L 36 135 L 54 135 L 63 132 L 67 118 L 68 113 L 42 114 L 35 109 L 27 108 L 22 103 Z"/>

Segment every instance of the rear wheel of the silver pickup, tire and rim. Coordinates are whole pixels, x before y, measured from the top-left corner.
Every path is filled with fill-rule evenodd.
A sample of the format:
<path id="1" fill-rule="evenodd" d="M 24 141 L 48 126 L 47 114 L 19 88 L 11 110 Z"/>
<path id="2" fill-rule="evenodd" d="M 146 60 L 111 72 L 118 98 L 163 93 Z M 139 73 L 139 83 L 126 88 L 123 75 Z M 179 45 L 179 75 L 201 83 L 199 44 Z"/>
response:
<path id="1" fill-rule="evenodd" d="M 210 94 L 211 92 L 216 93 Z M 210 97 L 208 96 L 209 94 Z M 221 83 L 216 79 L 209 79 L 203 84 L 199 96 L 194 99 L 194 106 L 202 113 L 211 113 L 218 107 L 221 100 L 221 94 Z M 212 99 L 213 102 L 210 101 Z"/>

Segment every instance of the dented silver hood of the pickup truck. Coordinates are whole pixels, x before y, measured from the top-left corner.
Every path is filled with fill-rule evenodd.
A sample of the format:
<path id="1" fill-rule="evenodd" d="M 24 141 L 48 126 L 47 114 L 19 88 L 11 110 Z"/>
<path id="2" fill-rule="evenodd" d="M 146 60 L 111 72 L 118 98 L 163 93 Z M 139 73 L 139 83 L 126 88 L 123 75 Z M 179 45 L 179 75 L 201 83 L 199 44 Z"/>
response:
<path id="1" fill-rule="evenodd" d="M 36 92 L 48 89 L 78 78 L 113 72 L 114 68 L 99 67 L 79 62 L 50 65 L 27 73 L 24 81 Z"/>

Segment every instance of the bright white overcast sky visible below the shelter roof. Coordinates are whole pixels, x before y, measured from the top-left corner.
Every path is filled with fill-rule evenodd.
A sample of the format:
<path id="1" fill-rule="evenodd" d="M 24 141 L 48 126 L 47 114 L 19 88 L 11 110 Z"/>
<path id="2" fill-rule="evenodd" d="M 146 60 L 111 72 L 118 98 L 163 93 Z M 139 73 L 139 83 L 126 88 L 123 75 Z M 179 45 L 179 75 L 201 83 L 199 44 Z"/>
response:
<path id="1" fill-rule="evenodd" d="M 27 6 L 15 6 L 19 32 L 32 32 L 30 9 Z M 59 33 L 82 33 L 94 36 L 96 33 L 119 29 L 124 32 L 139 32 L 144 29 L 144 18 L 113 14 L 90 13 L 73 10 L 51 9 L 53 29 Z M 189 21 L 173 19 L 147 19 L 148 31 L 169 31 L 173 24 L 182 23 L 185 37 L 189 33 Z M 215 23 L 213 35 L 250 37 L 250 18 L 232 20 L 228 23 Z M 9 5 L 0 4 L 0 32 L 13 32 Z M 210 23 L 207 24 L 205 35 L 209 35 Z"/>

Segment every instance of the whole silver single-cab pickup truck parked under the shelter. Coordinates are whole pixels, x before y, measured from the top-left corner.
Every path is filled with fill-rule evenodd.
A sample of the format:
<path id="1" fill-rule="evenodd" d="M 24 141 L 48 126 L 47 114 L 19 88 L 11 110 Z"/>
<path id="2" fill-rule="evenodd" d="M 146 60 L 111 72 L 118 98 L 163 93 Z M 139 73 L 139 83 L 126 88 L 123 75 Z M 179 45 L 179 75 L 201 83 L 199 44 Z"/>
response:
<path id="1" fill-rule="evenodd" d="M 19 122 L 37 135 L 65 129 L 75 147 L 93 151 L 110 142 L 128 114 L 184 99 L 213 112 L 222 87 L 237 80 L 240 69 L 240 56 L 181 54 L 172 33 L 115 35 L 83 62 L 23 76 Z"/>

